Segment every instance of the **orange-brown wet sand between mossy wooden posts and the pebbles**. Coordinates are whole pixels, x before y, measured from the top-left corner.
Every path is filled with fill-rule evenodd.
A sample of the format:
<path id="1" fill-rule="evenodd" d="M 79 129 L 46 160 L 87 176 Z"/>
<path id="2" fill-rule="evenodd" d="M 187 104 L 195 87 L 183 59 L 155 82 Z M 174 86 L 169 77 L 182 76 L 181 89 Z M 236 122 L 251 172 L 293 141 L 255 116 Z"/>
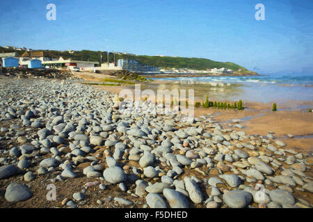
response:
<path id="1" fill-rule="evenodd" d="M 255 106 L 257 106 L 255 104 Z M 195 117 L 212 114 L 214 120 L 221 122 L 224 128 L 241 130 L 248 135 L 266 136 L 268 131 L 275 132 L 275 137 L 284 141 L 295 151 L 313 152 L 313 113 L 296 111 L 270 110 L 218 110 L 215 108 L 196 108 Z M 239 124 L 244 128 L 236 128 L 233 119 L 240 119 Z M 231 127 L 229 126 L 231 124 Z M 294 135 L 289 138 L 287 135 Z"/>

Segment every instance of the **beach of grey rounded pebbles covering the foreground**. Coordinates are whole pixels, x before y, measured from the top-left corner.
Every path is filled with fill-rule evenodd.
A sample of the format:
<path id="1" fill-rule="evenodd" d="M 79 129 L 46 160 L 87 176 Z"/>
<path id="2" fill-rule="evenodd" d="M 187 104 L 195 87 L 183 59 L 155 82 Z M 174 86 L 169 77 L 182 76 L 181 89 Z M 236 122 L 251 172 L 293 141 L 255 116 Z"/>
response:
<path id="1" fill-rule="evenodd" d="M 0 207 L 312 207 L 313 157 L 275 131 L 120 103 L 75 80 L 0 76 Z"/>

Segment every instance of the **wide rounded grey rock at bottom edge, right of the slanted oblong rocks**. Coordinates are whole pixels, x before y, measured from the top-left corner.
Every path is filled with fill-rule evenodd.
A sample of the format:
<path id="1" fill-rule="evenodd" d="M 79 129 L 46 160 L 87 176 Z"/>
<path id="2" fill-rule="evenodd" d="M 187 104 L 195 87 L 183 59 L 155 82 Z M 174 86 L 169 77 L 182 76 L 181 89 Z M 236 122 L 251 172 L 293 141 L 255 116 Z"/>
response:
<path id="1" fill-rule="evenodd" d="M 231 190 L 223 194 L 223 200 L 228 207 L 244 208 L 252 203 L 253 197 L 247 191 Z"/>

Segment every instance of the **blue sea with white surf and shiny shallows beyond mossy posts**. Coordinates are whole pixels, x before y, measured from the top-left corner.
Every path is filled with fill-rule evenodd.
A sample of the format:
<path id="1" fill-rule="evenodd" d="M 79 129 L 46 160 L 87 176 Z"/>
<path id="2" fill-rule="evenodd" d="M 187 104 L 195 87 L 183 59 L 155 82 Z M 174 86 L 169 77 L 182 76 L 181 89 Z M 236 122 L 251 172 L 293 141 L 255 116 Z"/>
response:
<path id="1" fill-rule="evenodd" d="M 194 89 L 195 99 L 282 103 L 313 102 L 312 74 L 260 74 L 259 76 L 199 76 L 151 78 L 157 89 Z M 151 87 L 151 85 L 150 85 Z M 152 86 L 153 88 L 153 86 Z"/>

